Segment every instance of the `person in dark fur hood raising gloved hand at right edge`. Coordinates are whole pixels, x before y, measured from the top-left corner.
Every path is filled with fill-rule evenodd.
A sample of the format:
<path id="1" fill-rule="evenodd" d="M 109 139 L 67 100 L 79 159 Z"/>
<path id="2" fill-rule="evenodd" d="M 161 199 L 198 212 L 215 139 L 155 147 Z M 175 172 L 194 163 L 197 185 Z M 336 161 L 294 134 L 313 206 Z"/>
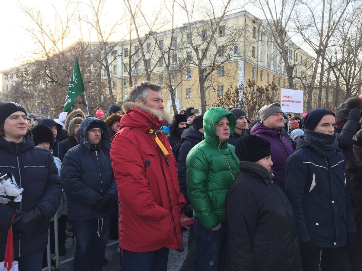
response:
<path id="1" fill-rule="evenodd" d="M 337 134 L 338 147 L 343 151 L 346 161 L 355 158 L 352 149 L 352 137 L 361 129 L 362 100 L 352 97 L 342 103 L 336 114 L 336 126 L 334 132 Z"/>

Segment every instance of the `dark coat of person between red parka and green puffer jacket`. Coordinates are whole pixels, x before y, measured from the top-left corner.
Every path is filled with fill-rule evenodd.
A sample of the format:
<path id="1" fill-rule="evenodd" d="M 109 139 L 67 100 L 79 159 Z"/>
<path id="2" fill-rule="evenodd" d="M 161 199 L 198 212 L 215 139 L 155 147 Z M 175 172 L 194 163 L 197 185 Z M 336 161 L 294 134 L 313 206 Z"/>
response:
<path id="1" fill-rule="evenodd" d="M 178 184 L 180 185 L 180 191 L 184 194 L 186 205 L 191 205 L 189 197 L 187 195 L 186 188 L 186 157 L 193 146 L 201 142 L 203 139 L 203 133 L 189 128 L 186 129 L 181 135 L 181 146 L 178 151 Z"/>

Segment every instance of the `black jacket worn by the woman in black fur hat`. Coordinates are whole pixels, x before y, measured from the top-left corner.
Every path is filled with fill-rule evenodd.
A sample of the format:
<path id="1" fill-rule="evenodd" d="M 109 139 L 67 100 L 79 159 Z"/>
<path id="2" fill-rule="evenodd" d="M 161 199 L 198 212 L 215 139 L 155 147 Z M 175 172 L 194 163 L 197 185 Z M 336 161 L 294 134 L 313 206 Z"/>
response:
<path id="1" fill-rule="evenodd" d="M 226 195 L 231 270 L 302 270 L 292 207 L 261 165 L 240 162 Z"/>

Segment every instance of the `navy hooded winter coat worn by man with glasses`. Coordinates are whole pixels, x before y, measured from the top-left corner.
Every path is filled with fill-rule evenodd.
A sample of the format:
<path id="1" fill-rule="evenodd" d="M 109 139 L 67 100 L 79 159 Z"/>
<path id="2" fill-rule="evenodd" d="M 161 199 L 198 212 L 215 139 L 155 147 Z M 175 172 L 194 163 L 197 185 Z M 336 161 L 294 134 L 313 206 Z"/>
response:
<path id="1" fill-rule="evenodd" d="M 88 126 L 91 122 L 99 122 L 104 131 L 97 150 L 87 140 Z M 68 218 L 82 220 L 109 215 L 114 211 L 113 205 L 104 213 L 95 209 L 96 198 L 101 195 L 117 199 L 117 186 L 109 156 L 107 125 L 102 120 L 89 117 L 80 124 L 77 136 L 80 144 L 67 151 L 60 170 L 68 199 Z"/>

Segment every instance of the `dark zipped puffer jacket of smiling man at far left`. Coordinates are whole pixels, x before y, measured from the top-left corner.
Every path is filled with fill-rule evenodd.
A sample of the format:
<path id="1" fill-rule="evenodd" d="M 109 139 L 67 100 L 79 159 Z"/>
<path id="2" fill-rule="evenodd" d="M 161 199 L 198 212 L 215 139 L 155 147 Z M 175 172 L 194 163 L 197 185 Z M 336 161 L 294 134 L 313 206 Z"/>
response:
<path id="1" fill-rule="evenodd" d="M 46 216 L 38 231 L 21 240 L 14 235 L 14 257 L 20 257 L 46 248 L 50 218 L 55 215 L 62 197 L 62 183 L 52 154 L 41 147 L 34 147 L 28 134 L 25 139 L 15 143 L 0 137 L 0 172 L 12 173 L 17 185 L 24 188 L 21 202 L 0 203 L 0 261 L 4 260 L 9 223 L 15 210 L 38 208 Z"/>

